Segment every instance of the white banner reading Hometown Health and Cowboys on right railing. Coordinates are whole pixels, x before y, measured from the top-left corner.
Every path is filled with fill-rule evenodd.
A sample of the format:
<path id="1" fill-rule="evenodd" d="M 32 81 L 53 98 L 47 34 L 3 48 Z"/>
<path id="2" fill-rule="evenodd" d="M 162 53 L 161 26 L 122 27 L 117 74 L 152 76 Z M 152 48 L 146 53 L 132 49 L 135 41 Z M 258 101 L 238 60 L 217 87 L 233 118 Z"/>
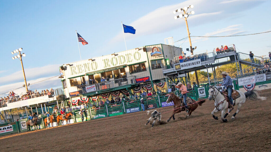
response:
<path id="1" fill-rule="evenodd" d="M 250 77 L 239 78 L 238 85 L 239 86 L 249 85 L 249 84 L 255 84 L 256 82 L 262 82 L 262 81 L 266 81 L 265 74 L 257 74 Z"/>

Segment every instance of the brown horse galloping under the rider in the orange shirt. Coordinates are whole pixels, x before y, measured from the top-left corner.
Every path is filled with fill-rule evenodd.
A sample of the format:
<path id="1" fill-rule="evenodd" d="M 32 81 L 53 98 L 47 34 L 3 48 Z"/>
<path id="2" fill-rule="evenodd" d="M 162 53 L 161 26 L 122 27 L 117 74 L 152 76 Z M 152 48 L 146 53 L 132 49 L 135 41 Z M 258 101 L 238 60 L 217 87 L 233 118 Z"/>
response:
<path id="1" fill-rule="evenodd" d="M 192 99 L 192 98 L 191 98 Z M 179 99 L 179 97 L 177 97 L 173 92 L 170 93 L 169 97 L 167 98 L 167 103 L 169 103 L 170 101 L 173 101 L 174 105 L 174 110 L 173 110 L 173 113 L 172 115 L 170 116 L 170 118 L 167 120 L 167 122 L 170 121 L 170 119 L 173 117 L 173 120 L 175 120 L 175 117 L 174 115 L 176 113 L 180 113 L 181 111 L 185 111 L 185 107 L 183 106 L 183 98 L 182 99 Z M 188 113 L 186 115 L 185 118 L 188 118 L 189 115 L 191 115 L 191 113 L 198 107 L 198 105 L 202 105 L 202 103 L 205 102 L 205 100 L 201 100 L 199 102 L 195 101 L 194 99 L 192 99 L 193 101 L 193 104 L 190 104 L 188 107 L 189 107 L 189 110 L 188 110 Z"/>

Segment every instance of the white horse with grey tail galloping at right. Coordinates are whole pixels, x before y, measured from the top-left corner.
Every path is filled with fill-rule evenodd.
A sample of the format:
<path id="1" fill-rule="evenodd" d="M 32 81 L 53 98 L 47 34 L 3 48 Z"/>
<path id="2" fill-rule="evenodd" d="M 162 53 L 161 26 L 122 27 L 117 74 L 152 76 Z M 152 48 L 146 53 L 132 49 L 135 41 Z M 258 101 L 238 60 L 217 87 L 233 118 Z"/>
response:
<path id="1" fill-rule="evenodd" d="M 242 104 L 246 102 L 246 98 L 249 98 L 250 100 L 253 100 L 253 101 L 266 99 L 266 97 L 260 97 L 257 90 L 247 91 L 246 93 L 243 93 L 242 91 L 239 91 L 239 90 L 236 90 L 236 91 L 239 92 L 240 97 L 235 99 L 235 105 L 237 105 L 237 110 L 236 110 L 236 113 L 233 114 L 231 119 L 234 119 L 235 115 L 240 111 Z M 214 86 L 210 86 L 208 92 L 209 92 L 209 97 L 208 97 L 209 100 L 215 100 L 215 108 L 212 111 L 213 118 L 215 120 L 218 120 L 218 117 L 215 117 L 214 113 L 221 111 L 221 120 L 223 122 L 227 122 L 227 119 L 225 118 L 227 117 L 228 113 L 231 112 L 231 110 L 228 109 L 228 102 L 226 101 L 225 95 Z M 228 113 L 224 115 L 227 109 L 228 109 Z"/>

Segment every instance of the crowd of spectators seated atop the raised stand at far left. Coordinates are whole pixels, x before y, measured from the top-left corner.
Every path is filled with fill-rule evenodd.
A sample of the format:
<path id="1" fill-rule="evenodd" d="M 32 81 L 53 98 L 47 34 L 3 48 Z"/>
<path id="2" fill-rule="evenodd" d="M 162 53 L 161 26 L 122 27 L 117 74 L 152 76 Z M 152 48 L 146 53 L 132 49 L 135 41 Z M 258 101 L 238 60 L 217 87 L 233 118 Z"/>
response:
<path id="1" fill-rule="evenodd" d="M 7 107 L 8 103 L 13 103 L 17 101 L 22 101 L 22 100 L 27 100 L 31 98 L 36 98 L 36 97 L 41 97 L 45 95 L 54 95 L 54 90 L 53 88 L 46 90 L 42 90 L 41 92 L 38 92 L 37 90 L 35 91 L 28 91 L 26 94 L 15 94 L 13 91 L 9 92 L 7 97 L 1 97 L 0 98 L 0 108 L 1 107 Z"/>

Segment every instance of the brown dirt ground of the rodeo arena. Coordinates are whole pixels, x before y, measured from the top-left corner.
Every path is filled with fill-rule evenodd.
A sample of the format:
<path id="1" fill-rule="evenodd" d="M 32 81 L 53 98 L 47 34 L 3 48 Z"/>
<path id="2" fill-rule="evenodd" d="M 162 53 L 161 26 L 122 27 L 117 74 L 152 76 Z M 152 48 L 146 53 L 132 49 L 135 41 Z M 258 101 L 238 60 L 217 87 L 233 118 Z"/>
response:
<path id="1" fill-rule="evenodd" d="M 264 90 L 260 95 L 270 98 L 270 92 Z M 141 111 L 13 134 L 0 137 L 0 151 L 270 151 L 270 101 L 247 100 L 235 120 L 230 117 L 236 108 L 227 117 L 228 123 L 214 120 L 214 101 L 206 101 L 187 120 L 182 112 L 175 115 L 175 121 L 153 129 L 144 126 L 150 115 Z M 164 113 L 172 108 L 160 110 Z M 162 114 L 162 120 L 170 115 Z"/>

